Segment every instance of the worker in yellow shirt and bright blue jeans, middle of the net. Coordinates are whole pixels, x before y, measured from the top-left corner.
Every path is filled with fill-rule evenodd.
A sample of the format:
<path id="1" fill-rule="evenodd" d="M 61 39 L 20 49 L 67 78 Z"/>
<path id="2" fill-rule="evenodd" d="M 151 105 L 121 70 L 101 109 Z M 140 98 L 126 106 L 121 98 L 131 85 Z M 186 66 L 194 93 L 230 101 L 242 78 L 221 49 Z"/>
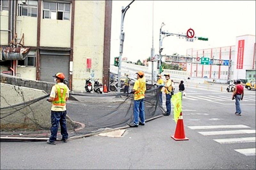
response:
<path id="1" fill-rule="evenodd" d="M 134 83 L 132 93 L 134 94 L 134 106 L 133 106 L 133 124 L 129 124 L 130 127 L 138 127 L 145 125 L 145 112 L 144 112 L 144 98 L 146 92 L 146 81 L 143 79 L 144 73 L 139 71 L 137 79 Z"/>

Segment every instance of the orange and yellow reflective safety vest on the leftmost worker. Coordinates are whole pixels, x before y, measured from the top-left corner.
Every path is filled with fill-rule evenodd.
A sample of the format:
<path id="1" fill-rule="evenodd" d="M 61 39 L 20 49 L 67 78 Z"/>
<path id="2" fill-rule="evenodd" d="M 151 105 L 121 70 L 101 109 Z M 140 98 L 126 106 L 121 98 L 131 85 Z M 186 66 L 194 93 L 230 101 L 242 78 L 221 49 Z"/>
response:
<path id="1" fill-rule="evenodd" d="M 66 92 L 67 86 L 60 86 L 59 84 L 55 85 L 57 89 L 57 95 L 55 96 L 54 100 L 52 101 L 53 105 L 55 106 L 65 106 L 66 104 Z M 63 90 L 61 90 L 63 89 Z M 62 93 L 61 93 L 62 91 Z"/>

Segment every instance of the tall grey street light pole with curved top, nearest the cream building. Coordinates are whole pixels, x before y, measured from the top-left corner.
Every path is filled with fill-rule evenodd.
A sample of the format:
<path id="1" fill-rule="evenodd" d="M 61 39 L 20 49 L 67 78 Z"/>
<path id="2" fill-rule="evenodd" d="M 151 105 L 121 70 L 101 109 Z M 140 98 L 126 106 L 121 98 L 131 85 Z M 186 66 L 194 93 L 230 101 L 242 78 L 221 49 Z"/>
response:
<path id="1" fill-rule="evenodd" d="M 119 47 L 119 66 L 118 66 L 118 83 L 117 83 L 117 92 L 120 93 L 121 87 L 121 62 L 122 62 L 122 54 L 123 54 L 123 46 L 124 46 L 124 16 L 126 11 L 130 8 L 130 5 L 134 2 L 133 0 L 129 5 L 125 8 L 122 6 L 122 15 L 121 15 L 121 32 L 120 32 L 120 47 Z"/>

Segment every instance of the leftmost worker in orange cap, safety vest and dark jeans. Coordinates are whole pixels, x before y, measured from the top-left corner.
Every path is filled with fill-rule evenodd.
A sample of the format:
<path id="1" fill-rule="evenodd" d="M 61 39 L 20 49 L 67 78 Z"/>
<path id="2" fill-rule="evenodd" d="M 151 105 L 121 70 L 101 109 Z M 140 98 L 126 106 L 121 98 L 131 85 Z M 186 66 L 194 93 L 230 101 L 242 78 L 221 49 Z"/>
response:
<path id="1" fill-rule="evenodd" d="M 69 97 L 69 89 L 64 84 L 65 75 L 63 73 L 57 73 L 53 75 L 54 82 L 56 83 L 51 90 L 50 97 L 47 101 L 52 102 L 51 109 L 51 137 L 47 140 L 48 144 L 55 145 L 57 138 L 57 132 L 60 122 L 60 133 L 62 135 L 63 142 L 68 142 L 68 131 L 66 125 L 66 101 Z"/>

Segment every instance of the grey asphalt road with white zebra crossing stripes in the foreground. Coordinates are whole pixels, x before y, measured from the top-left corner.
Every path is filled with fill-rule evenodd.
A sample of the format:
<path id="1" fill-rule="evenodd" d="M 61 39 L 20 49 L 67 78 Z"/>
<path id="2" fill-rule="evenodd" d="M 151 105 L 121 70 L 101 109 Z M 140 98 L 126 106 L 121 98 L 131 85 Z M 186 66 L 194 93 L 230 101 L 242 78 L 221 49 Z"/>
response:
<path id="1" fill-rule="evenodd" d="M 245 89 L 242 116 L 236 116 L 224 86 L 185 82 L 182 114 L 189 140 L 170 137 L 176 128 L 171 115 L 127 128 L 120 138 L 1 142 L 0 169 L 256 169 L 256 93 Z"/>

